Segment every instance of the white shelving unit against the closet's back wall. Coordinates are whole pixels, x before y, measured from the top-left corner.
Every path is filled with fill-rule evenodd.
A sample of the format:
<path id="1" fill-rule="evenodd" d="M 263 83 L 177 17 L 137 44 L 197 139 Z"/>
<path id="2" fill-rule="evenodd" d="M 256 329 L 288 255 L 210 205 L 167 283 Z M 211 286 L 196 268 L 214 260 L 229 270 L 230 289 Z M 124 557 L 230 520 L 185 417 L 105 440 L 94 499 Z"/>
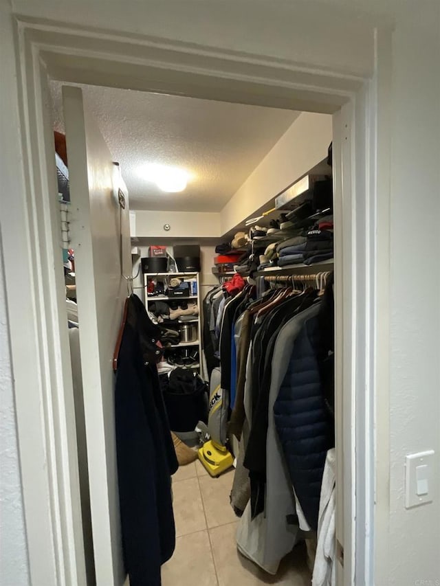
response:
<path id="1" fill-rule="evenodd" d="M 170 279 L 179 278 L 184 281 L 195 281 L 197 287 L 197 295 L 151 295 L 148 296 L 147 285 L 148 279 L 158 279 L 163 280 L 164 283 Z M 200 282 L 199 282 L 199 273 L 144 273 L 144 288 L 145 288 L 145 306 L 148 311 L 148 305 L 154 303 L 155 301 L 164 301 L 164 302 L 177 302 L 186 301 L 186 302 L 195 302 L 197 303 L 197 307 L 199 308 L 199 315 L 195 315 L 193 319 L 176 319 L 175 322 L 179 325 L 183 324 L 197 324 L 197 340 L 192 342 L 184 342 L 181 341 L 178 344 L 173 344 L 170 346 L 169 350 L 177 349 L 177 348 L 194 348 L 197 347 L 199 350 L 199 365 L 191 365 L 186 368 L 191 368 L 192 370 L 197 370 L 201 372 L 201 317 L 200 317 Z M 190 289 L 191 291 L 191 289 Z M 174 322 L 173 322 L 174 323 Z M 182 367 L 185 368 L 185 367 Z"/>

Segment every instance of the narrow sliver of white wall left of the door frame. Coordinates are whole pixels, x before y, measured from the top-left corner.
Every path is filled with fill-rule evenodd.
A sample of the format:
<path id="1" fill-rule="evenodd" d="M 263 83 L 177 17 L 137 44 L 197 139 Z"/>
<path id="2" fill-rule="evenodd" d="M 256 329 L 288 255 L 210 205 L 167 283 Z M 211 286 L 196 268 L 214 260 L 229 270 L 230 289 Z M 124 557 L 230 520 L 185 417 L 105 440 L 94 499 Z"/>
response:
<path id="1" fill-rule="evenodd" d="M 0 584 L 29 584 L 0 234 Z"/>

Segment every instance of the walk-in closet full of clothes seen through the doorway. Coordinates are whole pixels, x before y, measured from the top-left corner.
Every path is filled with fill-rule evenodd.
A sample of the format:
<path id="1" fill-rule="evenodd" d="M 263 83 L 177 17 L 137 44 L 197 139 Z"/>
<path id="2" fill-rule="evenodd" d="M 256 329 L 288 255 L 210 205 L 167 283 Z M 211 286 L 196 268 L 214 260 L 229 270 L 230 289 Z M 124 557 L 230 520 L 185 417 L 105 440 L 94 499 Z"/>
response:
<path id="1" fill-rule="evenodd" d="M 85 583 L 335 585 L 331 115 L 50 94 Z"/>

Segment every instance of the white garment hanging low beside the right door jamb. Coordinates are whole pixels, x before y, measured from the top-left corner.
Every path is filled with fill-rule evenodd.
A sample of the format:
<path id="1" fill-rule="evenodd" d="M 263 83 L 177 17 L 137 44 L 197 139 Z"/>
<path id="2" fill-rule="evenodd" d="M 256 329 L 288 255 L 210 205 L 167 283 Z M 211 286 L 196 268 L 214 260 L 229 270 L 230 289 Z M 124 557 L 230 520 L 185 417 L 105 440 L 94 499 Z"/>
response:
<path id="1" fill-rule="evenodd" d="M 327 452 L 324 474 L 322 475 L 318 517 L 318 544 L 312 586 L 336 586 L 336 452 Z"/>

